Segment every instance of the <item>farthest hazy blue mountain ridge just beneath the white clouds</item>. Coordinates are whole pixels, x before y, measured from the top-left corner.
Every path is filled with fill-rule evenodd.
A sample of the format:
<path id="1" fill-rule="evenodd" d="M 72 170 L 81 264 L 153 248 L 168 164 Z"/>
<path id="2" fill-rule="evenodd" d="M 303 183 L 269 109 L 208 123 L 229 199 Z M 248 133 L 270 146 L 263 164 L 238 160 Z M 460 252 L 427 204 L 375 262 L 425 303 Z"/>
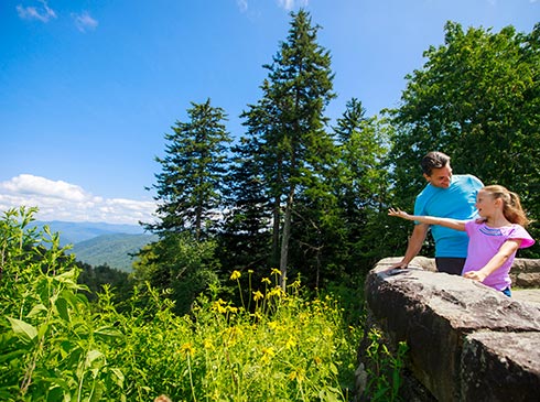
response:
<path id="1" fill-rule="evenodd" d="M 125 233 L 125 235 L 143 235 L 144 229 L 138 225 L 112 225 L 105 222 L 68 222 L 62 220 L 52 221 L 33 221 L 30 227 L 40 227 L 47 225 L 51 231 L 60 232 L 62 246 L 76 245 L 80 241 L 89 240 L 98 236 Z"/>

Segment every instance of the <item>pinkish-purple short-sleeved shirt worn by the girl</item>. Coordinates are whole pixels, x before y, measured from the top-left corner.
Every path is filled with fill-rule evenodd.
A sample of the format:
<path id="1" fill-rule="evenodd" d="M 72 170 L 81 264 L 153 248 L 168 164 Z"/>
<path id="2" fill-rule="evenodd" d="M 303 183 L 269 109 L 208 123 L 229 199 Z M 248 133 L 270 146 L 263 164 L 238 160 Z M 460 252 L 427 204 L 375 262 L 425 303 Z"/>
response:
<path id="1" fill-rule="evenodd" d="M 520 249 L 531 247 L 534 240 L 520 225 L 504 226 L 501 228 L 490 228 L 485 222 L 477 224 L 476 220 L 465 222 L 465 231 L 468 235 L 468 250 L 465 267 L 462 275 L 468 271 L 478 271 L 497 253 L 504 242 L 511 239 L 520 239 Z M 484 280 L 484 284 L 504 291 L 511 283 L 509 272 L 516 252 L 495 272 Z"/>

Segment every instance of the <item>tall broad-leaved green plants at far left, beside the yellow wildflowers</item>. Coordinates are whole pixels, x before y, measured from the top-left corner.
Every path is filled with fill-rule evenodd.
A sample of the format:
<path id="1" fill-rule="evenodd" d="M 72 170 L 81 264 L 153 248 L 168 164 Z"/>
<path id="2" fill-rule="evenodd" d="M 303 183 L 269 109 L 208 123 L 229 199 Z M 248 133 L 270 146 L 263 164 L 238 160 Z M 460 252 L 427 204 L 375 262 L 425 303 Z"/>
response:
<path id="1" fill-rule="evenodd" d="M 25 230 L 34 211 L 11 209 L 0 221 L 0 399 L 98 401 L 122 383 L 104 354 L 120 334 L 78 293 L 58 235 Z"/>

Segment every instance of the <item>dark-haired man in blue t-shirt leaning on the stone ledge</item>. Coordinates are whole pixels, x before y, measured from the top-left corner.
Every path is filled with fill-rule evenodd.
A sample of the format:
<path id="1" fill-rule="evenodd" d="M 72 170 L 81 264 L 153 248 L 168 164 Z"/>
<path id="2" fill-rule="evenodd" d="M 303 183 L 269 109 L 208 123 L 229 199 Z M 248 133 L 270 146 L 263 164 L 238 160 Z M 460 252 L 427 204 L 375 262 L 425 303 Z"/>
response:
<path id="1" fill-rule="evenodd" d="M 421 162 L 428 185 L 417 196 L 414 215 L 430 215 L 453 219 L 473 219 L 476 216 L 476 193 L 484 186 L 473 175 L 452 175 L 450 156 L 430 152 Z M 403 259 L 392 268 L 407 268 L 420 252 L 431 228 L 435 240 L 435 264 L 440 272 L 461 275 L 467 257 L 468 237 L 464 231 L 414 222 L 414 229 Z"/>

